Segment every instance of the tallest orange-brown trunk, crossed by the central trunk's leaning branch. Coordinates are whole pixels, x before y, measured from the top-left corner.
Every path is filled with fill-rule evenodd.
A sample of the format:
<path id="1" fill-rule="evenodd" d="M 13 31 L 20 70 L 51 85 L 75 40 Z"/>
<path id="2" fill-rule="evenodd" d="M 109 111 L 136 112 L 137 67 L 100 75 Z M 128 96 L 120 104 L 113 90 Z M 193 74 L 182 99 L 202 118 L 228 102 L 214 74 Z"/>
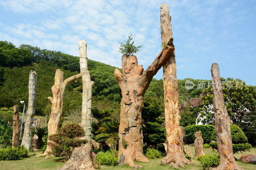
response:
<path id="1" fill-rule="evenodd" d="M 172 38 L 171 16 L 167 4 L 160 6 L 161 37 L 162 48 L 164 48 L 170 38 Z M 180 109 L 179 109 L 179 89 L 176 77 L 175 52 L 163 65 L 164 72 L 164 114 L 166 129 L 167 156 L 161 164 L 170 164 L 174 168 L 184 167 L 192 162 L 184 156 L 182 152 L 183 136 L 180 130 Z"/>

